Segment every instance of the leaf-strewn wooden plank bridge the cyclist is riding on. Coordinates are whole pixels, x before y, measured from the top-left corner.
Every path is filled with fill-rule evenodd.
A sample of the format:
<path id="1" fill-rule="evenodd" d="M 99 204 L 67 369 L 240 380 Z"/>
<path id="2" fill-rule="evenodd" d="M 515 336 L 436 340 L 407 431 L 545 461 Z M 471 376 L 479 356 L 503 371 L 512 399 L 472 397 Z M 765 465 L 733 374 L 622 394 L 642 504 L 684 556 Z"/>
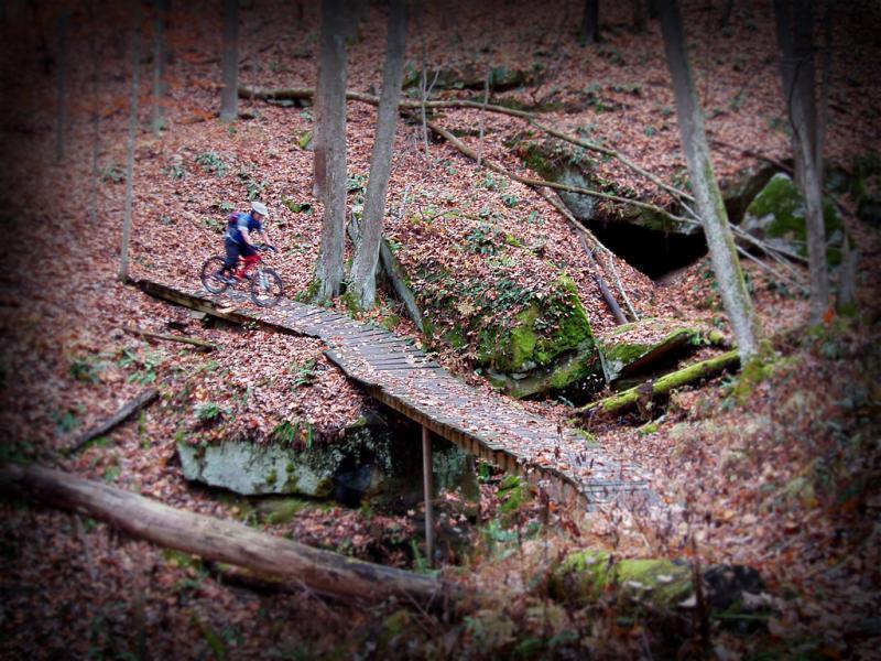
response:
<path id="1" fill-rule="evenodd" d="M 660 505 L 639 467 L 518 402 L 464 383 L 413 343 L 372 324 L 283 299 L 254 306 L 242 292 L 211 295 L 150 280 L 144 292 L 237 323 L 322 339 L 325 355 L 377 400 L 508 472 L 540 483 L 564 502 L 592 508 Z"/>

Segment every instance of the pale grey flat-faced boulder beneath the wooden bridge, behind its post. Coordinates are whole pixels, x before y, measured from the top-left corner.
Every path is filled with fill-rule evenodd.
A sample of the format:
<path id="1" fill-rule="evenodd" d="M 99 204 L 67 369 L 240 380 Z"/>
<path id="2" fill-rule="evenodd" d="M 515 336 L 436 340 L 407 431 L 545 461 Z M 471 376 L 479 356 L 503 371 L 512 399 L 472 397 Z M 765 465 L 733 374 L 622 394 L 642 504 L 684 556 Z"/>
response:
<path id="1" fill-rule="evenodd" d="M 400 510 L 422 499 L 418 427 L 379 423 L 348 427 L 340 441 L 305 447 L 278 440 L 228 438 L 219 444 L 177 444 L 184 476 L 244 496 L 289 494 L 335 498 Z M 476 491 L 474 460 L 438 440 L 433 453 L 438 490 Z"/>

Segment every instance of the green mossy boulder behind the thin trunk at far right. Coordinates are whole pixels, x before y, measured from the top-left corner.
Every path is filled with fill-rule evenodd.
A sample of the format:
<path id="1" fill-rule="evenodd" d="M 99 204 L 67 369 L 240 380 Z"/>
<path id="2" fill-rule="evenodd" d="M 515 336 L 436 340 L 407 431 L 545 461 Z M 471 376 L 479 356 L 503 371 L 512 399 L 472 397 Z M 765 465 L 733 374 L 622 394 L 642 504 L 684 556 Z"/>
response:
<path id="1" fill-rule="evenodd" d="M 830 264 L 841 261 L 845 228 L 838 209 L 829 198 L 823 199 L 826 224 L 827 259 Z M 747 207 L 743 229 L 769 245 L 807 257 L 805 205 L 801 192 L 786 174 L 777 173 Z"/>

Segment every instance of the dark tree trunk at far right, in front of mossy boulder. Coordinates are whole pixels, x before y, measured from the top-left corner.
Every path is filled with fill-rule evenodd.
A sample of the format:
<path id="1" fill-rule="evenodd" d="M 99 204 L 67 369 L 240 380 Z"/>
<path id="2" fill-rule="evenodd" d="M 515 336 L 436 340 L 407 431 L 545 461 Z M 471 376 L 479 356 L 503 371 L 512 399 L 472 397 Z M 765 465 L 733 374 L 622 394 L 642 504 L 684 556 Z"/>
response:
<path id="1" fill-rule="evenodd" d="M 829 305 L 826 227 L 823 218 L 823 141 L 817 122 L 812 0 L 774 0 L 781 77 L 792 128 L 795 180 L 805 198 L 811 318 Z"/>

